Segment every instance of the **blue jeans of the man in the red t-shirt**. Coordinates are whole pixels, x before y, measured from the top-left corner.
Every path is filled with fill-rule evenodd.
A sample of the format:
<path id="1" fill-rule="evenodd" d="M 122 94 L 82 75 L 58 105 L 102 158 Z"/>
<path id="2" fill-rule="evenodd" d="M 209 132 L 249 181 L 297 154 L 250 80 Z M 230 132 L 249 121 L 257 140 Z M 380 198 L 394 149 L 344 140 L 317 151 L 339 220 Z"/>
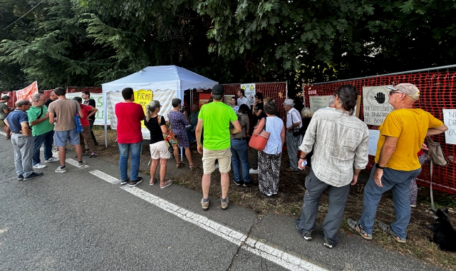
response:
<path id="1" fill-rule="evenodd" d="M 140 170 L 140 156 L 141 156 L 142 141 L 138 143 L 119 143 L 119 170 L 120 180 L 128 180 L 128 154 L 131 150 L 131 180 L 138 180 L 138 173 Z"/>

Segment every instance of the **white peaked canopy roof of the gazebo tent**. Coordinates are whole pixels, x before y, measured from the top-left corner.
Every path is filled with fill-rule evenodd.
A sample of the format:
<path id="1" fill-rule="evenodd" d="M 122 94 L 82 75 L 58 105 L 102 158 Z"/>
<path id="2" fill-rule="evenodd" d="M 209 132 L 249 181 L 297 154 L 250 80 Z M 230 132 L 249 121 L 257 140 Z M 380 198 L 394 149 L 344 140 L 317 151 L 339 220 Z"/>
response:
<path id="1" fill-rule="evenodd" d="M 138 91 L 140 89 L 170 89 L 176 91 L 177 98 L 183 98 L 183 91 L 187 89 L 208 89 L 218 82 L 178 66 L 150 66 L 143 68 L 137 73 L 130 74 L 118 80 L 101 84 L 103 93 L 110 91 L 122 91 L 130 87 Z"/>

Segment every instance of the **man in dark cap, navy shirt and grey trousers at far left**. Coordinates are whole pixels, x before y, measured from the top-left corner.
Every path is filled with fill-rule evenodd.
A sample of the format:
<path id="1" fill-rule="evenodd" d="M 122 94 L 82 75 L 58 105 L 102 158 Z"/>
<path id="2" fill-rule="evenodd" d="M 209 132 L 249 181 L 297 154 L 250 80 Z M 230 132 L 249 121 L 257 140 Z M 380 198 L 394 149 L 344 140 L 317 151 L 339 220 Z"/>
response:
<path id="1" fill-rule="evenodd" d="M 31 103 L 25 99 L 16 101 L 16 109 L 6 117 L 6 124 L 13 133 L 11 143 L 14 148 L 14 164 L 16 165 L 17 180 L 31 180 L 41 177 L 43 173 L 33 171 L 31 160 L 33 158 L 33 136 L 28 125 L 26 111 Z"/>

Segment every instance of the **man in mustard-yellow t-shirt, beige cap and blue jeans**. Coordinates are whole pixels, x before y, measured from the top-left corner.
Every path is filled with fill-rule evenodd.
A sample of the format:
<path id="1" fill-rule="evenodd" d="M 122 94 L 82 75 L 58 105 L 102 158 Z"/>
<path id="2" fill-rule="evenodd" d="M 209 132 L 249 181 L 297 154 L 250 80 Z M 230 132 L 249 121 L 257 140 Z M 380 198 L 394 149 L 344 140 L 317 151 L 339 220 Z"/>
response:
<path id="1" fill-rule="evenodd" d="M 348 226 L 364 239 L 371 240 L 375 213 L 380 199 L 388 190 L 393 192 L 395 221 L 390 225 L 379 222 L 378 226 L 405 242 L 410 220 L 410 181 L 421 172 L 418 151 L 426 136 L 447 131 L 442 121 L 430 113 L 414 108 L 420 91 L 411 83 L 400 83 L 390 89 L 389 103 L 394 110 L 386 116 L 380 126 L 375 166 L 364 188 L 363 213 L 358 221 L 347 219 Z"/>

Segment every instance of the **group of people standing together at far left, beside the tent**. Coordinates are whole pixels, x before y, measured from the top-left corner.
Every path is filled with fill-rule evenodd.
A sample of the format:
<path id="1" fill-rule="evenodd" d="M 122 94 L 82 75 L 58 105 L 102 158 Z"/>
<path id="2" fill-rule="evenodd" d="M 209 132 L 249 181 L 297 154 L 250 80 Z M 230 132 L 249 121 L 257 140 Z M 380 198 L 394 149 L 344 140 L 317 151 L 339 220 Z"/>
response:
<path id="1" fill-rule="evenodd" d="M 90 93 L 84 92 L 83 97 L 90 101 Z M 65 173 L 67 143 L 74 145 L 79 168 L 86 165 L 82 159 L 82 156 L 86 155 L 84 139 L 88 143 L 90 158 L 98 155 L 90 137 L 88 121 L 88 118 L 98 110 L 83 104 L 81 97 L 68 99 L 64 88 L 56 88 L 47 99 L 42 93 L 34 94 L 31 101 L 19 99 L 15 103 L 16 108 L 8 108 L 8 100 L 9 96 L 2 97 L 4 103 L 1 104 L 1 109 L 4 115 L 1 120 L 6 139 L 11 139 L 14 148 L 18 180 L 31 180 L 43 176 L 43 173 L 35 172 L 35 169 L 46 168 L 46 163 L 59 162 L 56 173 Z M 76 131 L 77 114 L 81 118 L 83 133 Z M 53 145 L 58 149 L 58 157 L 53 156 Z M 44 163 L 41 163 L 41 149 Z"/>

